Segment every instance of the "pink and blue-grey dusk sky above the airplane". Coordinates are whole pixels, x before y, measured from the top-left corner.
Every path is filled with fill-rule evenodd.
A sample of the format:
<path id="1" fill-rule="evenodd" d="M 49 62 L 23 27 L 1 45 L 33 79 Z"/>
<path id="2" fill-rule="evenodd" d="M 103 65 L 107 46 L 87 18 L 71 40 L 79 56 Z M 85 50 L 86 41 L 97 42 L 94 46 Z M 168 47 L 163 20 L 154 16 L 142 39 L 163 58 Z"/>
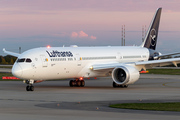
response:
<path id="1" fill-rule="evenodd" d="M 1 0 L 2 49 L 120 46 L 125 25 L 126 46 L 140 45 L 157 8 L 162 7 L 157 50 L 180 51 L 179 0 Z"/>

